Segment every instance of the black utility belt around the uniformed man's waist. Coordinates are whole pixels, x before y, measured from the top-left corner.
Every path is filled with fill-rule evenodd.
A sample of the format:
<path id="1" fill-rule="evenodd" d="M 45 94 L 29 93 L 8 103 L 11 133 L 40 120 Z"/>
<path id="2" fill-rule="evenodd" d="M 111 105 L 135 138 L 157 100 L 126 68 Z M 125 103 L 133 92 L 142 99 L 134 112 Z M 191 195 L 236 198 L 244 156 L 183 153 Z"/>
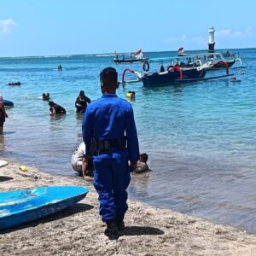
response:
<path id="1" fill-rule="evenodd" d="M 96 151 L 98 154 L 108 154 L 111 148 L 117 148 L 119 151 L 125 150 L 126 138 L 96 141 Z"/>

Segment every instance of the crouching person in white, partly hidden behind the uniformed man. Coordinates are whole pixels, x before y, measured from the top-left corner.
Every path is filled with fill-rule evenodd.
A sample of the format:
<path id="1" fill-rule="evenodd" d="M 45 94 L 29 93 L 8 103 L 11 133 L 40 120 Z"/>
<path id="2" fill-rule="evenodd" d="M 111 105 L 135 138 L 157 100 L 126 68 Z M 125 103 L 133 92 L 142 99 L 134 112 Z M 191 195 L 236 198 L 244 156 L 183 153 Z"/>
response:
<path id="1" fill-rule="evenodd" d="M 85 144 L 81 143 L 74 151 L 71 158 L 71 165 L 73 170 L 79 172 L 80 176 L 83 176 L 87 181 L 93 181 L 93 165 L 92 161 L 88 161 L 88 166 L 84 161 Z"/>

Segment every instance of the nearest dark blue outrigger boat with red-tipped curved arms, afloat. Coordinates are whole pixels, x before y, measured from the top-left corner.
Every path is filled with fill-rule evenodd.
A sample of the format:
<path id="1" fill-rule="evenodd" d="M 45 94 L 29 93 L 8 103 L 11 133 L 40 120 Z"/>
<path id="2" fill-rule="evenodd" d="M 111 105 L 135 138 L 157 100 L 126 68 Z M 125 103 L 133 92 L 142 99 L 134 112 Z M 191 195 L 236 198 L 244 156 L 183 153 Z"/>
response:
<path id="1" fill-rule="evenodd" d="M 169 58 L 170 60 L 170 58 Z M 163 66 L 163 61 L 165 59 L 159 59 L 161 62 L 160 72 L 148 73 L 139 73 L 130 68 L 126 68 L 123 72 L 122 83 L 137 83 L 143 82 L 143 86 L 157 86 L 157 85 L 170 85 L 170 84 L 183 84 L 183 83 L 191 83 L 197 81 L 204 81 L 209 79 L 219 79 L 224 77 L 233 76 L 234 74 L 229 73 L 229 67 L 226 66 L 226 73 L 224 75 L 218 75 L 213 77 L 205 78 L 207 74 L 207 70 L 212 65 L 212 61 L 207 61 L 205 63 L 201 63 L 201 60 L 196 60 L 195 58 L 190 56 L 177 56 L 172 58 L 172 61 L 177 61 L 177 64 L 170 65 L 166 68 Z M 182 61 L 183 60 L 183 61 Z M 186 61 L 186 62 L 185 62 Z M 143 67 L 144 67 L 143 63 Z M 173 64 L 173 62 L 172 62 Z M 147 66 L 149 69 L 149 64 Z M 136 80 L 125 80 L 125 74 L 127 72 L 134 73 L 137 75 Z"/>

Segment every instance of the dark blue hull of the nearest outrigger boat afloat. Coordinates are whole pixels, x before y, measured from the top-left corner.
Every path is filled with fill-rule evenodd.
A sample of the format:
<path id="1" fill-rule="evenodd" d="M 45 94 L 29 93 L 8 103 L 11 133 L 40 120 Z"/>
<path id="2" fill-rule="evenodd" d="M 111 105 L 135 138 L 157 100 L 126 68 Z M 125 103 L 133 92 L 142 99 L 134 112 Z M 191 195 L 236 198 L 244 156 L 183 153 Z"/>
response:
<path id="1" fill-rule="evenodd" d="M 183 79 L 203 79 L 207 73 L 207 69 L 191 68 L 188 70 L 183 70 Z M 146 74 L 142 78 L 144 86 L 154 86 L 154 85 L 168 85 L 182 82 L 180 79 L 180 73 L 177 71 L 167 72 L 167 73 L 152 73 Z"/>

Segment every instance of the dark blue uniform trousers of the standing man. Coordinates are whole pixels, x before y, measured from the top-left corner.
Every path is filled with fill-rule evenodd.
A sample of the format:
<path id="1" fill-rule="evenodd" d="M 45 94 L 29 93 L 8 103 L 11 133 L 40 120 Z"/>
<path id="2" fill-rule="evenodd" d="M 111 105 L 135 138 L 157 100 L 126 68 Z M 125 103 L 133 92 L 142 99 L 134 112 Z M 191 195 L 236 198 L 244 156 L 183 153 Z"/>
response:
<path id="1" fill-rule="evenodd" d="M 94 157 L 94 186 L 99 195 L 102 221 L 112 221 L 127 211 L 126 189 L 131 181 L 128 160 L 101 154 Z"/>

